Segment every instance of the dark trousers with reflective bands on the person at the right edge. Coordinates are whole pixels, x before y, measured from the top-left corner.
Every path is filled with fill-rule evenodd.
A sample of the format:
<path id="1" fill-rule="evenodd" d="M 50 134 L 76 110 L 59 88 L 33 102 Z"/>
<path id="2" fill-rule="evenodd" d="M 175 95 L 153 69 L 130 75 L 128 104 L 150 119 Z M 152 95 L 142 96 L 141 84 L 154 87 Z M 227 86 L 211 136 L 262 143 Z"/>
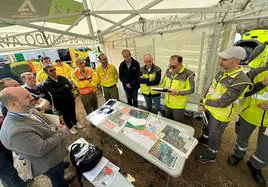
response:
<path id="1" fill-rule="evenodd" d="M 242 117 L 236 125 L 237 139 L 235 145 L 236 156 L 243 158 L 247 153 L 248 140 L 256 128 L 255 125 L 244 120 Z M 261 170 L 268 163 L 268 136 L 264 135 L 266 127 L 259 127 L 257 149 L 256 152 L 251 156 L 250 162 L 252 165 Z"/>

